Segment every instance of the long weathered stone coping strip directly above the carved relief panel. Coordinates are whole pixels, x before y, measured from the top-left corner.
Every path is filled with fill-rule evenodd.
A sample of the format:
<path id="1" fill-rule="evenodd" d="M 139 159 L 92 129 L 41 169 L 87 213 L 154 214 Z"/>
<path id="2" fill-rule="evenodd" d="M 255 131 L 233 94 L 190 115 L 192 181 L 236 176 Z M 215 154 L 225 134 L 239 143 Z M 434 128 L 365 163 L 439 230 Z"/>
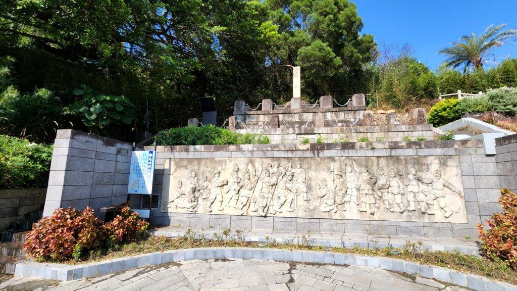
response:
<path id="1" fill-rule="evenodd" d="M 284 144 L 222 144 L 205 146 L 157 146 L 157 152 L 239 152 L 239 151 L 325 151 L 325 150 L 377 150 L 377 149 L 445 149 L 482 148 L 481 140 L 426 140 L 383 142 L 328 142 Z M 148 146 L 145 150 L 153 150 Z"/>

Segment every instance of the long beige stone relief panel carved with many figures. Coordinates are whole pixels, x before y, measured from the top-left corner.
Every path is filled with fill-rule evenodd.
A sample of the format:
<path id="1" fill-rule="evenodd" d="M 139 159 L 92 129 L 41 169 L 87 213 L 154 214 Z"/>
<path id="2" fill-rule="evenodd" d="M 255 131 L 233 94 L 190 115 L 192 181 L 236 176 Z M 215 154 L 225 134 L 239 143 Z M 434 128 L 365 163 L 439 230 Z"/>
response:
<path id="1" fill-rule="evenodd" d="M 278 168 L 275 167 L 276 163 L 279 165 Z M 303 171 L 297 169 L 298 163 L 300 163 L 299 168 L 306 172 L 305 184 L 302 183 L 302 181 L 295 182 L 300 176 L 303 176 Z M 429 201 L 425 200 L 422 202 L 424 206 L 428 207 L 428 212 L 422 213 L 421 209 L 419 209 L 422 203 L 419 203 L 417 197 L 414 199 L 415 210 L 408 210 L 410 209 L 409 201 L 411 198 L 408 197 L 407 182 L 409 180 L 408 174 L 410 174 L 411 167 L 415 167 L 417 171 L 415 177 L 425 176 L 425 174 L 422 173 L 425 167 L 424 164 L 428 165 L 429 173 L 427 177 L 431 175 L 431 179 L 434 179 L 431 186 L 434 186 L 431 187 L 432 190 L 428 192 L 427 196 L 420 195 L 420 197 L 424 197 L 424 199 L 429 197 L 433 198 L 434 196 L 431 196 L 431 194 L 440 196 L 440 193 L 445 195 L 445 197 L 441 199 L 429 199 Z M 344 196 L 346 196 L 346 171 L 348 168 L 345 165 L 352 167 L 352 172 L 348 172 L 348 177 L 349 180 L 355 181 L 357 184 L 357 189 L 350 191 L 351 195 L 348 196 L 348 199 L 344 198 Z M 234 169 L 237 168 L 236 166 L 238 167 L 238 171 L 235 173 Z M 361 179 L 360 175 L 362 174 L 362 168 L 364 166 L 367 167 L 368 172 L 364 174 L 366 179 Z M 280 169 L 280 167 L 283 168 L 283 170 Z M 216 168 L 218 170 L 216 170 Z M 272 170 L 269 171 L 269 169 Z M 391 212 L 386 208 L 382 193 L 377 190 L 377 184 L 379 183 L 374 183 L 371 187 L 361 183 L 361 181 L 369 180 L 368 175 L 370 176 L 370 183 L 375 182 L 373 181 L 374 177 L 377 181 L 382 181 L 382 179 L 379 178 L 380 169 L 384 169 L 385 175 L 388 177 L 390 170 L 392 170 L 395 177 L 391 180 L 391 184 L 402 185 L 404 194 L 399 195 L 398 198 L 395 198 L 395 195 L 389 197 L 390 195 L 388 194 L 388 199 L 386 199 L 388 207 L 390 206 L 392 210 L 397 210 L 395 212 Z M 437 169 L 441 169 L 442 180 L 436 178 L 435 170 Z M 220 171 L 219 182 L 212 181 L 217 171 Z M 266 178 L 266 171 L 270 173 L 270 178 Z M 249 173 L 249 183 L 244 179 L 245 172 Z M 271 173 L 274 178 L 271 178 Z M 284 174 L 282 175 L 282 173 Z M 336 174 L 342 175 L 343 180 L 341 180 L 341 182 L 336 181 Z M 288 176 L 291 175 L 293 175 L 293 180 L 288 178 Z M 203 185 L 204 176 L 206 176 L 206 182 L 208 183 L 204 183 Z M 284 178 L 277 178 L 278 176 L 283 176 Z M 334 179 L 332 179 L 332 176 L 334 176 Z M 355 178 L 353 178 L 354 176 Z M 277 183 L 271 186 L 269 193 L 267 193 L 267 190 L 263 191 L 263 188 L 267 189 L 267 185 L 264 186 L 265 183 L 271 183 L 271 181 L 275 181 L 275 179 L 283 181 L 283 185 Z M 323 187 L 323 179 L 326 180 L 328 188 Z M 397 179 L 400 183 L 396 182 Z M 225 183 L 225 180 L 228 180 L 227 183 Z M 181 184 L 179 183 L 180 181 Z M 212 186 L 212 184 L 217 183 L 221 186 Z M 388 184 L 389 183 L 388 181 Z M 181 187 L 178 188 L 178 184 L 180 184 Z M 352 185 L 354 182 L 350 182 L 349 184 Z M 418 185 L 421 185 L 421 182 L 418 182 Z M 442 187 L 440 187 L 440 185 L 442 185 Z M 214 187 L 215 190 L 211 191 L 211 187 Z M 337 189 L 332 191 L 334 187 Z M 219 193 L 217 188 L 221 190 L 220 193 L 222 195 L 217 195 Z M 248 188 L 248 191 L 246 191 L 246 188 Z M 322 188 L 323 190 L 321 190 Z M 340 188 L 341 196 L 339 196 L 338 193 Z M 343 188 L 345 188 L 345 192 L 343 192 Z M 373 191 L 373 195 L 361 195 L 361 188 L 367 188 L 369 189 L 368 191 Z M 443 190 L 440 190 L 440 188 Z M 282 192 L 281 189 L 284 189 L 285 202 L 283 202 L 284 199 L 280 193 Z M 306 193 L 305 190 L 307 190 Z M 413 190 L 415 190 L 415 187 L 413 187 Z M 418 186 L 418 191 L 420 191 L 420 186 Z M 429 184 L 427 191 L 429 191 Z M 389 192 L 392 191 L 390 190 Z M 250 198 L 246 199 L 242 197 L 246 193 L 248 193 Z M 273 193 L 273 195 L 271 195 L 271 193 Z M 357 193 L 357 198 L 354 197 L 355 193 Z M 232 195 L 237 195 L 236 197 L 238 198 L 232 201 Z M 264 201 L 266 203 L 266 206 L 263 208 L 263 213 L 260 213 L 260 209 L 258 209 L 258 211 L 252 211 L 254 206 L 256 208 L 260 206 L 261 196 L 263 197 L 263 204 Z M 304 196 L 307 196 L 310 200 L 303 199 Z M 334 197 L 334 205 L 331 203 L 332 196 Z M 291 197 L 293 197 L 292 205 L 290 205 Z M 219 207 L 220 198 L 223 200 L 221 207 Z M 374 198 L 377 199 L 374 200 Z M 211 207 L 210 200 L 214 200 Z M 255 202 L 255 200 L 255 205 L 252 205 L 251 202 Z M 341 201 L 341 203 L 339 203 L 339 201 Z M 227 206 L 227 203 L 229 203 L 230 206 Z M 404 211 L 402 211 L 400 203 L 402 203 L 405 208 Z M 278 207 L 278 205 L 280 206 Z M 345 206 L 347 208 L 346 210 Z M 209 211 L 209 209 L 211 209 L 211 211 Z M 275 209 L 280 209 L 282 212 L 275 211 Z M 293 209 L 293 211 L 288 211 L 290 209 Z M 164 163 L 161 211 L 314 219 L 448 223 L 468 222 L 458 156 L 170 158 L 165 159 Z M 435 214 L 432 214 L 432 212 Z"/>

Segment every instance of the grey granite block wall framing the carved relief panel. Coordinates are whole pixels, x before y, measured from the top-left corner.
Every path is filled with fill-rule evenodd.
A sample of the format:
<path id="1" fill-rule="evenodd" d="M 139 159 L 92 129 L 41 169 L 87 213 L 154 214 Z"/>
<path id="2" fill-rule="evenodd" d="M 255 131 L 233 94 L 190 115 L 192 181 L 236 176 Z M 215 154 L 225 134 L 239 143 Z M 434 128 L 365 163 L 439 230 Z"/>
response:
<path id="1" fill-rule="evenodd" d="M 477 236 L 477 223 L 500 211 L 497 203 L 501 170 L 496 156 L 484 155 L 482 142 L 348 142 L 320 144 L 254 144 L 229 146 L 157 147 L 157 177 L 154 194 L 160 195 L 165 159 L 169 158 L 241 158 L 241 157 L 365 157 L 365 156 L 459 156 L 467 209 L 467 223 L 433 223 L 406 221 L 366 221 L 312 219 L 296 217 L 261 217 L 162 212 L 153 209 L 151 221 L 157 225 L 190 227 L 230 226 L 265 231 L 305 233 L 344 233 L 415 235 L 429 237 Z"/>

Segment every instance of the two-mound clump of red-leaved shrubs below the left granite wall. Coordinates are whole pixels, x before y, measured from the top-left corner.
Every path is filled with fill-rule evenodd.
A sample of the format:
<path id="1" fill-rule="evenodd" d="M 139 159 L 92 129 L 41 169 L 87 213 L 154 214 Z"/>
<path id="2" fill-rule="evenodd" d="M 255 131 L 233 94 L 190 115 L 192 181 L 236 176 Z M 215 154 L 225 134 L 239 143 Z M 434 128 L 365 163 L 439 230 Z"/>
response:
<path id="1" fill-rule="evenodd" d="M 29 231 L 23 248 L 27 255 L 35 259 L 78 259 L 88 250 L 144 238 L 148 225 L 146 221 L 138 219 L 136 212 L 129 207 L 124 207 L 121 216 L 117 215 L 110 223 L 100 221 L 89 207 L 83 211 L 71 207 L 59 208 Z"/>

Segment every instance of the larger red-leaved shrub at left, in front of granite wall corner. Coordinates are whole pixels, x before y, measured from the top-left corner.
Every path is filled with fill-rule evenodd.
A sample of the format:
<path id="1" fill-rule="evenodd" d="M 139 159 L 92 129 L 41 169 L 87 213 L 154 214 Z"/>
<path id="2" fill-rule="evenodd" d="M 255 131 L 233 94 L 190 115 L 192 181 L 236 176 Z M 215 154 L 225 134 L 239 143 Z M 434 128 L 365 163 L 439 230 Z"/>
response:
<path id="1" fill-rule="evenodd" d="M 72 256 L 74 247 L 89 250 L 96 242 L 102 244 L 104 239 L 103 222 L 92 208 L 83 211 L 59 208 L 27 234 L 23 249 L 35 259 L 62 260 Z"/>

